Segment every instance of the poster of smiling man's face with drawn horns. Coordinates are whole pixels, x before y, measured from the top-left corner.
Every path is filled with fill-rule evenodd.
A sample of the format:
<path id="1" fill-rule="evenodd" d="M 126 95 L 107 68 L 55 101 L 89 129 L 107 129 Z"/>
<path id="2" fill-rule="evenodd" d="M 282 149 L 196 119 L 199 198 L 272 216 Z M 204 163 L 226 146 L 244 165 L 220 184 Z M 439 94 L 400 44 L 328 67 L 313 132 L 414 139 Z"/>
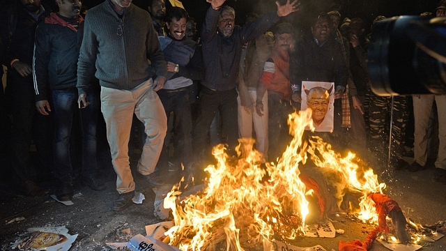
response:
<path id="1" fill-rule="evenodd" d="M 312 109 L 316 132 L 332 132 L 334 117 L 334 83 L 302 81 L 302 110 Z M 310 130 L 309 127 L 305 130 Z"/>

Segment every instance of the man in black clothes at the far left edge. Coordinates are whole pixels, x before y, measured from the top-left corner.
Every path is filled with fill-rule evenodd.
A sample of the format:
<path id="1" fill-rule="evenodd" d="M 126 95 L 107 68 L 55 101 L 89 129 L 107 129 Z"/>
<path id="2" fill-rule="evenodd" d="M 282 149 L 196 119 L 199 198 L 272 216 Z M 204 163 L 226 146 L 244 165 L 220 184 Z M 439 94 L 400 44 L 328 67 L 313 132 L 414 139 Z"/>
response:
<path id="1" fill-rule="evenodd" d="M 47 193 L 31 181 L 33 163 L 29 148 L 32 140 L 38 153 L 38 174 L 48 178 L 52 170 L 51 122 L 49 116 L 36 112 L 31 74 L 36 27 L 49 15 L 49 11 L 48 7 L 40 4 L 40 0 L 20 0 L 1 13 L 2 19 L 5 17 L 6 20 L 0 24 L 2 42 L 6 46 L 2 63 L 8 66 L 6 96 L 10 100 L 13 115 L 9 147 L 11 165 L 19 177 L 14 180 L 18 181 L 22 191 L 28 196 Z"/>

